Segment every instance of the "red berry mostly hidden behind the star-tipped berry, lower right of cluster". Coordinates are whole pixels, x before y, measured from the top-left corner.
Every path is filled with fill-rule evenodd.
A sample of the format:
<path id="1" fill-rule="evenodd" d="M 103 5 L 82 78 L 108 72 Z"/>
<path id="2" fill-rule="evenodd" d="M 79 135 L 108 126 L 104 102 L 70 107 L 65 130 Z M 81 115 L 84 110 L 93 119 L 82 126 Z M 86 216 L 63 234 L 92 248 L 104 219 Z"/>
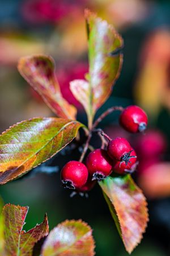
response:
<path id="1" fill-rule="evenodd" d="M 137 154 L 131 148 L 130 152 L 130 160 L 126 164 L 126 162 L 117 161 L 116 159 L 113 160 L 113 171 L 117 174 L 126 174 L 127 172 L 135 171 L 135 167 L 137 166 Z"/>

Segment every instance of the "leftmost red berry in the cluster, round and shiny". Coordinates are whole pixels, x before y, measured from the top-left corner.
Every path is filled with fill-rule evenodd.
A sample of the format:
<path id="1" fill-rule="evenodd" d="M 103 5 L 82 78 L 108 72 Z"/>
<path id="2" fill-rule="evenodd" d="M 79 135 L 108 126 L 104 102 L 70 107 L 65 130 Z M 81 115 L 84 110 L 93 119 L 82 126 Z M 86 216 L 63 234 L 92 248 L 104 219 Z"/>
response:
<path id="1" fill-rule="evenodd" d="M 63 187 L 77 189 L 86 184 L 88 178 L 87 167 L 78 161 L 70 161 L 61 170 Z"/>

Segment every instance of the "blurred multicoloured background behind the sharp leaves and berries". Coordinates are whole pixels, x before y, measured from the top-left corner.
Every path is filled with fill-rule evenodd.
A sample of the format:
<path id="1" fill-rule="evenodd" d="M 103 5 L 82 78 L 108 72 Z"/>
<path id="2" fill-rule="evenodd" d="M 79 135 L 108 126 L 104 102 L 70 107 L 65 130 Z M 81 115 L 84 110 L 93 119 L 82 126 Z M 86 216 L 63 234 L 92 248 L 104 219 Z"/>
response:
<path id="1" fill-rule="evenodd" d="M 149 117 L 146 142 L 118 127 L 118 114 L 105 118 L 103 128 L 112 137 L 130 139 L 141 155 L 134 179 L 148 199 L 150 222 L 133 256 L 170 255 L 170 3 L 144 0 L 0 0 L 0 130 L 37 116 L 52 116 L 40 97 L 17 71 L 19 57 L 45 53 L 56 60 L 56 75 L 67 100 L 82 107 L 69 91 L 69 81 L 83 79 L 88 70 L 85 7 L 112 23 L 125 41 L 124 65 L 112 96 L 97 112 L 112 105 L 142 106 Z M 147 135 L 148 134 L 148 135 Z M 148 148 L 143 156 L 141 143 Z M 94 140 L 95 146 L 99 146 Z M 159 148 L 154 152 L 154 148 Z M 143 150 L 143 151 L 142 151 Z M 68 148 L 19 180 L 0 188 L 5 203 L 28 205 L 26 230 L 48 213 L 50 229 L 65 219 L 87 221 L 94 230 L 97 256 L 128 255 L 118 236 L 99 187 L 89 198 L 61 187 L 59 171 L 79 151 Z M 140 159 L 139 159 L 140 160 Z M 45 171 L 45 173 L 43 173 Z M 46 174 L 49 172 L 49 174 Z"/>

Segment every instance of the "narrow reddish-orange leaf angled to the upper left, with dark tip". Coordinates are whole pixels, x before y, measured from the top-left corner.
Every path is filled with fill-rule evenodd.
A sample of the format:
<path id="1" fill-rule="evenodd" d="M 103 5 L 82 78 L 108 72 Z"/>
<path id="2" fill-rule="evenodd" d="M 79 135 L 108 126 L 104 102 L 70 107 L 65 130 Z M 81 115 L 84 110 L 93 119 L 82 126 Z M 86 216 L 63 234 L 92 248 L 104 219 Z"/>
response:
<path id="1" fill-rule="evenodd" d="M 18 64 L 20 74 L 58 117 L 75 119 L 76 108 L 62 97 L 54 67 L 52 57 L 45 55 L 22 57 Z"/>

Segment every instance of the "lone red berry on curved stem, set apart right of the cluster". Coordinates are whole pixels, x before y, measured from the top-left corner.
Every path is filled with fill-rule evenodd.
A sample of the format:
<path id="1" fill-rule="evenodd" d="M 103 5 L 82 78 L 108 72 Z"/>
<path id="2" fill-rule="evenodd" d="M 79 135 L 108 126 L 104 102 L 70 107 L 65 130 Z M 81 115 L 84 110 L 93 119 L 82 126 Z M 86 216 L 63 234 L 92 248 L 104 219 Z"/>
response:
<path id="1" fill-rule="evenodd" d="M 138 106 L 131 105 L 125 108 L 120 115 L 120 124 L 130 133 L 145 131 L 147 127 L 147 114 Z"/>

